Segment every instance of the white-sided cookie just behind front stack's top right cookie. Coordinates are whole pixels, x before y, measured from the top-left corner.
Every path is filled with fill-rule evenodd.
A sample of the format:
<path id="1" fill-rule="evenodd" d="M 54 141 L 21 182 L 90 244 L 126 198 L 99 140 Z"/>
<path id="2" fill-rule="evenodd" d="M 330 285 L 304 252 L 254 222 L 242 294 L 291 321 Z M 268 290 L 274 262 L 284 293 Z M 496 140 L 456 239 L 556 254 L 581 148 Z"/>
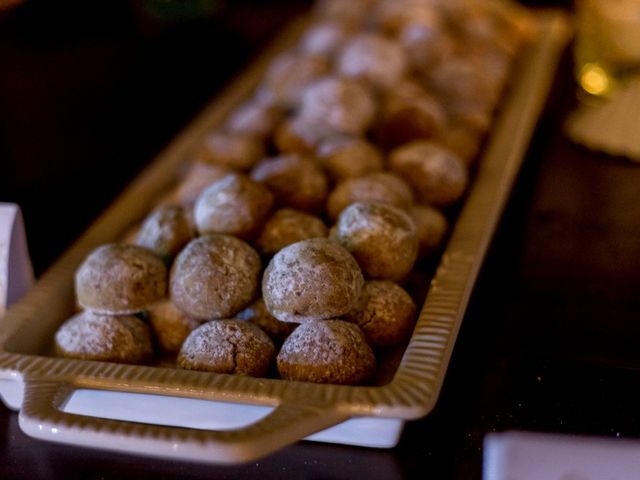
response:
<path id="1" fill-rule="evenodd" d="M 336 241 L 369 277 L 402 280 L 418 255 L 416 227 L 409 215 L 383 203 L 353 203 L 338 217 Z"/>

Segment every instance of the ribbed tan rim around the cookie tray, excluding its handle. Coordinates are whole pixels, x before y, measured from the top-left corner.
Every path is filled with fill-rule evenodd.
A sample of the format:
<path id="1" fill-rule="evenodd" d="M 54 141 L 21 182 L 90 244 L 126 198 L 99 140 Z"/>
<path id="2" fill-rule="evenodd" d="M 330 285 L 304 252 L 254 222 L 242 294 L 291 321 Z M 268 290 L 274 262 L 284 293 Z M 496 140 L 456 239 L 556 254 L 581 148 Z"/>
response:
<path id="1" fill-rule="evenodd" d="M 546 99 L 559 52 L 568 38 L 567 21 L 559 11 L 544 11 L 537 15 L 539 34 L 527 52 L 529 62 L 519 72 L 519 78 L 512 85 L 496 119 L 494 133 L 486 145 L 474 183 L 431 282 L 414 334 L 390 383 L 383 386 L 321 385 L 175 368 L 61 359 L 14 353 L 6 349 L 14 334 L 43 308 L 53 307 L 49 308 L 49 315 L 59 314 L 63 309 L 62 304 L 68 309 L 72 295 L 70 284 L 73 283 L 69 280 L 86 254 L 104 243 L 106 238 L 113 239 L 121 234 L 129 220 L 135 221 L 133 217 L 142 218 L 148 211 L 147 202 L 157 198 L 162 190 L 160 185 L 166 185 L 170 178 L 174 178 L 177 169 L 186 161 L 189 150 L 207 131 L 220 123 L 234 106 L 247 98 L 261 78 L 260 73 L 274 56 L 292 43 L 307 21 L 294 21 L 265 55 L 209 103 L 41 277 L 34 289 L 0 320 L 3 327 L 0 330 L 0 375 L 10 374 L 20 378 L 26 385 L 25 399 L 31 398 L 32 403 L 23 404 L 23 410 L 28 410 L 25 416 L 40 418 L 33 404 L 36 390 L 47 395 L 49 392 L 50 396 L 43 398 L 55 406 L 54 397 L 58 399 L 61 391 L 68 393 L 69 389 L 74 388 L 152 393 L 275 407 L 284 405 L 289 408 L 304 403 L 314 412 L 327 414 L 325 422 L 316 422 L 317 425 L 313 427 L 316 429 L 325 428 L 327 421 L 335 424 L 352 416 L 415 419 L 426 415 L 435 406 L 476 277 Z M 140 202 L 140 198 L 145 201 Z M 126 222 L 122 219 L 123 212 L 128 216 Z M 51 305 L 52 301 L 56 305 Z M 59 319 L 58 323 L 63 319 Z M 12 350 L 20 348 L 14 347 Z M 30 384 L 34 390 L 32 394 L 29 394 Z M 58 421 L 64 423 L 68 418 Z"/>

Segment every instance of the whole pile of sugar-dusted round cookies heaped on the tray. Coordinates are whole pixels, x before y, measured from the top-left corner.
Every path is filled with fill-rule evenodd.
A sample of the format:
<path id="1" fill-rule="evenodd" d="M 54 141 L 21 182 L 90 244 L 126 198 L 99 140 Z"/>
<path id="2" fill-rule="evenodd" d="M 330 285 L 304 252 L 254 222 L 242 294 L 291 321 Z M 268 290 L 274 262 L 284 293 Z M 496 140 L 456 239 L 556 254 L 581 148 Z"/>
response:
<path id="1" fill-rule="evenodd" d="M 76 272 L 70 358 L 361 384 L 405 344 L 527 32 L 483 0 L 325 0 L 135 232 Z M 154 354 L 155 352 L 155 354 Z"/>

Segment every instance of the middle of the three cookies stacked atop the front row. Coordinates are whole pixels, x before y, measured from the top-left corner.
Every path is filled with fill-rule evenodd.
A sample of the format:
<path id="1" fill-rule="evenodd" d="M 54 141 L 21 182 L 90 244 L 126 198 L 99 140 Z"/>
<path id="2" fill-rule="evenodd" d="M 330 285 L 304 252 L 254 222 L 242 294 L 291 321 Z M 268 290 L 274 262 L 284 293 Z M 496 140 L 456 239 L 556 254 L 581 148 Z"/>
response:
<path id="1" fill-rule="evenodd" d="M 198 237 L 173 262 L 171 300 L 198 320 L 231 317 L 255 297 L 260 270 L 258 252 L 242 240 Z"/>

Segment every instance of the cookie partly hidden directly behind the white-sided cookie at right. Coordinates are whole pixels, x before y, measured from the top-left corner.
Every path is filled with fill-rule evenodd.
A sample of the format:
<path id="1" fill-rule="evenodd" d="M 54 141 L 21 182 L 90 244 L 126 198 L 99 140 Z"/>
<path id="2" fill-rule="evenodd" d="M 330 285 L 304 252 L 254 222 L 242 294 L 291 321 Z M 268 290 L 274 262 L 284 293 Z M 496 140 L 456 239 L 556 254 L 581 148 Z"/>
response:
<path id="1" fill-rule="evenodd" d="M 386 203 L 407 209 L 413 203 L 411 187 L 398 175 L 375 172 L 340 182 L 329 194 L 327 214 L 335 220 L 354 202 Z"/>

